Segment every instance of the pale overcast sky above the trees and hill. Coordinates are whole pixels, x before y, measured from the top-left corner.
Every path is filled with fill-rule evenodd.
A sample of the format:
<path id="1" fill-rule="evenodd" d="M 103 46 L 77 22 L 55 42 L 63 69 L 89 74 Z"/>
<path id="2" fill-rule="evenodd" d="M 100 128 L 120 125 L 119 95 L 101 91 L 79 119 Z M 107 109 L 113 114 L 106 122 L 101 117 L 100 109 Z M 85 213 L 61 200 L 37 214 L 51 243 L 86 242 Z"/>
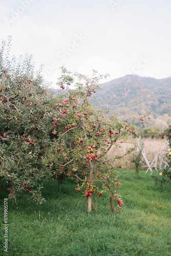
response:
<path id="1" fill-rule="evenodd" d="M 170 0 L 0 0 L 0 37 L 33 54 L 53 87 L 65 65 L 112 80 L 171 76 Z"/>

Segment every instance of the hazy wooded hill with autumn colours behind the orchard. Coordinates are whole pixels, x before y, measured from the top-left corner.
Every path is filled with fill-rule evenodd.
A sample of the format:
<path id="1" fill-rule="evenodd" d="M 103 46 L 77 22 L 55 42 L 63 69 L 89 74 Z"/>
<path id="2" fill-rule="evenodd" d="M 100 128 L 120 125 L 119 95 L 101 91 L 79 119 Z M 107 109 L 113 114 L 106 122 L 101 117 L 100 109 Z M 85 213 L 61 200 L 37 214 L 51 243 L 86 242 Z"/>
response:
<path id="1" fill-rule="evenodd" d="M 155 79 L 127 75 L 103 83 L 101 89 L 96 103 L 103 102 L 103 110 L 110 108 L 119 116 L 127 116 L 149 109 L 158 116 L 171 116 L 171 77 Z"/>

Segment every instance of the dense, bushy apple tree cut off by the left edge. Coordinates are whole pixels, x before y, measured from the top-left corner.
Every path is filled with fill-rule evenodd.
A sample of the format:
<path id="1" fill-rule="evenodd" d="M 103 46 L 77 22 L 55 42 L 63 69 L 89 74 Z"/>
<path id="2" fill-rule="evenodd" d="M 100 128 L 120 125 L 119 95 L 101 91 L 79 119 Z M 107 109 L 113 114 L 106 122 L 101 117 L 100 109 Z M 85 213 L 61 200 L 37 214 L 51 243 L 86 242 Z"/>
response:
<path id="1" fill-rule="evenodd" d="M 10 197 L 24 193 L 41 202 L 41 181 L 51 177 L 42 159 L 54 139 L 52 93 L 32 56 L 9 53 L 10 40 L 0 50 L 0 177 Z"/>

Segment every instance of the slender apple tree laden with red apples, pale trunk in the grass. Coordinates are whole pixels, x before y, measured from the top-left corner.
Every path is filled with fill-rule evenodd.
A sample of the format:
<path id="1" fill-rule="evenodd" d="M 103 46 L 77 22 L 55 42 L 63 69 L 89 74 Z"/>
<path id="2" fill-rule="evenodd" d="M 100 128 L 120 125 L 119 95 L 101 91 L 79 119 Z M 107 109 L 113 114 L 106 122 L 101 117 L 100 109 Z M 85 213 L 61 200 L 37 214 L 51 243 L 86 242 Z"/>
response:
<path id="1" fill-rule="evenodd" d="M 92 198 L 95 194 L 99 198 L 106 190 L 109 191 L 110 209 L 121 209 L 123 202 L 117 192 L 121 182 L 115 167 L 122 167 L 120 160 L 123 156 L 110 158 L 108 153 L 112 146 L 117 147 L 128 140 L 125 131 L 137 135 L 131 124 L 134 119 L 143 122 L 151 114 L 148 111 L 141 116 L 132 115 L 120 122 L 116 113 L 102 112 L 90 97 L 100 90 L 99 80 L 106 77 L 96 71 L 89 77 L 62 68 L 57 82 L 58 96 L 52 101 L 56 115 L 58 113 L 58 118 L 53 118 L 56 140 L 44 159 L 45 164 L 51 160 L 54 175 L 65 174 L 75 180 L 75 189 L 83 191 L 88 199 L 88 212 L 94 205 Z"/>

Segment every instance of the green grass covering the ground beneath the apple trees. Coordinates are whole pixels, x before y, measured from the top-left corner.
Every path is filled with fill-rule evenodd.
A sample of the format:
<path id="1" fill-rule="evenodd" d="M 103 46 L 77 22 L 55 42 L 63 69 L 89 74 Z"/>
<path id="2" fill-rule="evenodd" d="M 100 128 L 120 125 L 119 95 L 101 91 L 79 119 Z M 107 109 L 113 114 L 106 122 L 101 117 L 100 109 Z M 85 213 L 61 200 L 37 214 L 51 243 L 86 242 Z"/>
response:
<path id="1" fill-rule="evenodd" d="M 119 170 L 120 171 L 120 170 Z M 122 214 L 109 211 L 108 195 L 98 198 L 97 214 L 86 213 L 84 198 L 79 203 L 73 181 L 58 189 L 57 182 L 46 182 L 42 190 L 46 203 L 36 205 L 20 199 L 9 202 L 9 247 L 5 255 L 171 255 L 171 203 L 169 190 L 155 187 L 147 173 L 120 171 L 119 189 Z M 1 192 L 1 248 L 3 255 L 3 201 Z M 79 203 L 79 204 L 78 204 Z M 77 207 L 78 205 L 78 207 Z"/>

